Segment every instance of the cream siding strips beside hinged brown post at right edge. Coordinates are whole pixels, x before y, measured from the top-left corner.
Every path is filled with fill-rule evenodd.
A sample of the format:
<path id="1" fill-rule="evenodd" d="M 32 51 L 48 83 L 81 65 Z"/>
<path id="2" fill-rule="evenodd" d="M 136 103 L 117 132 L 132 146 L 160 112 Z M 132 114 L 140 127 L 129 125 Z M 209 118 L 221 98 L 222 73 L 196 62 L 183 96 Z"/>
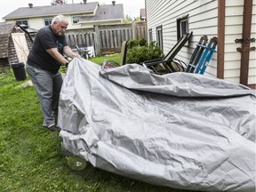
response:
<path id="1" fill-rule="evenodd" d="M 255 0 L 252 7 L 252 35 L 255 37 Z M 236 44 L 236 39 L 242 38 L 244 1 L 226 1 L 226 27 L 225 27 L 225 66 L 224 78 L 228 81 L 239 83 L 241 68 L 241 53 L 236 51 L 242 44 Z M 251 47 L 255 43 L 251 44 Z M 256 83 L 255 52 L 250 52 L 248 84 Z"/>

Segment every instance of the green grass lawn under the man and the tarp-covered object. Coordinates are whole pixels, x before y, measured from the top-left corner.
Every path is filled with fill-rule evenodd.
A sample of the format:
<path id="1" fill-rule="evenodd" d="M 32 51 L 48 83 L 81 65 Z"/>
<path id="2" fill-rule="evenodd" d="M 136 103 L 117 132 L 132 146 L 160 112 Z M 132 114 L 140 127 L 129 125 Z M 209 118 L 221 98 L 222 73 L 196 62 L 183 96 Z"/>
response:
<path id="1" fill-rule="evenodd" d="M 116 59 L 117 57 L 117 59 Z M 118 55 L 93 58 L 116 60 Z M 95 61 L 96 60 L 96 61 Z M 28 79 L 27 79 L 28 80 Z M 89 165 L 68 167 L 58 132 L 42 126 L 43 116 L 34 87 L 17 88 L 12 69 L 0 74 L 0 191 L 181 192 L 118 176 Z"/>

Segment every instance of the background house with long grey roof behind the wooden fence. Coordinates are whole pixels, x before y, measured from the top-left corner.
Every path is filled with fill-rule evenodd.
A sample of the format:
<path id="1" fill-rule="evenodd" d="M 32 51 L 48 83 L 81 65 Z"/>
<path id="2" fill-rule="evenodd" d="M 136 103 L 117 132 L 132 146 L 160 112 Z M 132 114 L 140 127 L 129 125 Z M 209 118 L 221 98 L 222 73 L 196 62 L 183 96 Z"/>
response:
<path id="1" fill-rule="evenodd" d="M 120 24 L 124 20 L 123 4 L 99 4 L 98 2 L 86 4 L 56 4 L 47 6 L 21 7 L 3 20 L 6 23 L 17 22 L 28 25 L 30 28 L 42 28 L 52 22 L 54 16 L 63 14 L 68 19 L 68 29 L 93 28 L 95 25 Z"/>

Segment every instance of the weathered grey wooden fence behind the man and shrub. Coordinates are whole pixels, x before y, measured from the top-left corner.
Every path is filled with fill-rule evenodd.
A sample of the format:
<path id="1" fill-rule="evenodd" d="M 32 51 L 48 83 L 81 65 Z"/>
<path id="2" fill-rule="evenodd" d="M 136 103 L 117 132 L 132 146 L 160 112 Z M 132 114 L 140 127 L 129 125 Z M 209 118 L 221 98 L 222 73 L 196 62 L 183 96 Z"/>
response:
<path id="1" fill-rule="evenodd" d="M 121 52 L 123 41 L 147 37 L 145 21 L 70 29 L 65 34 L 71 48 L 93 46 L 96 54 Z"/>

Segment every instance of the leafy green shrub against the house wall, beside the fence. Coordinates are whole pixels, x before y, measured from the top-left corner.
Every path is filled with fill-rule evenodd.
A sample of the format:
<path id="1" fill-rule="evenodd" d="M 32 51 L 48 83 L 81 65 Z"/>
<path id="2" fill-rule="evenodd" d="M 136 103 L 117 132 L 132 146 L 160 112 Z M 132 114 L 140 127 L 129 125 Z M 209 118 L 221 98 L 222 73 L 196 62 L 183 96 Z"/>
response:
<path id="1" fill-rule="evenodd" d="M 138 63 L 145 60 L 156 60 L 163 57 L 163 51 L 155 41 L 147 44 L 145 38 L 128 42 L 127 63 Z"/>

